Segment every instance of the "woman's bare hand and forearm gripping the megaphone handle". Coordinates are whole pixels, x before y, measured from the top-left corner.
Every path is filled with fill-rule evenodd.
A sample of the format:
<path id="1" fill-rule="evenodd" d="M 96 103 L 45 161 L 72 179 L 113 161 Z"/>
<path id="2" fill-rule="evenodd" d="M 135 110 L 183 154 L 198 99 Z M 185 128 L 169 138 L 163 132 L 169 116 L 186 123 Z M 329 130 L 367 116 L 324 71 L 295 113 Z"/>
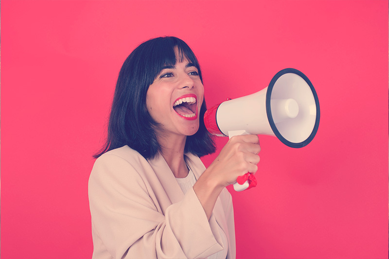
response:
<path id="1" fill-rule="evenodd" d="M 238 176 L 257 172 L 260 151 L 257 135 L 234 136 L 200 176 L 193 189 L 208 219 L 224 187 L 234 184 Z"/>

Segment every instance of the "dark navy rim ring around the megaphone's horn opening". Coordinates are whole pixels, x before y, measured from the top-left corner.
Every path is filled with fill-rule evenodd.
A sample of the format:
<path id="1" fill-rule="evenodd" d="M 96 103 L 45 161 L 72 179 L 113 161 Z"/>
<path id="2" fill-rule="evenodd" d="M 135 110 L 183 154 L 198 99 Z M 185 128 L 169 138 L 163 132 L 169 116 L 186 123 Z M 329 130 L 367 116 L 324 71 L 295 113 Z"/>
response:
<path id="1" fill-rule="evenodd" d="M 276 81 L 286 73 L 294 73 L 299 75 L 304 81 L 308 84 L 308 86 L 311 88 L 312 94 L 315 98 L 315 103 L 316 103 L 316 121 L 315 121 L 315 126 L 312 130 L 312 133 L 309 135 L 308 138 L 306 138 L 304 141 L 300 143 L 295 143 L 295 142 L 290 142 L 286 138 L 284 138 L 281 133 L 278 131 L 276 124 L 273 121 L 273 117 L 271 115 L 271 106 L 270 106 L 270 97 L 271 97 L 271 92 L 273 90 L 274 84 Z M 266 92 L 266 113 L 267 113 L 267 120 L 270 123 L 270 127 L 273 130 L 274 134 L 278 139 L 280 139 L 285 145 L 292 147 L 292 148 L 301 148 L 309 144 L 309 142 L 312 141 L 312 139 L 315 137 L 316 133 L 318 132 L 318 127 L 319 127 L 319 120 L 320 120 L 320 107 L 319 107 L 319 100 L 318 100 L 318 95 L 316 93 L 315 88 L 313 87 L 311 81 L 309 81 L 308 77 L 304 75 L 301 71 L 297 69 L 283 69 L 279 71 L 270 81 L 269 86 L 267 87 L 267 92 Z"/>

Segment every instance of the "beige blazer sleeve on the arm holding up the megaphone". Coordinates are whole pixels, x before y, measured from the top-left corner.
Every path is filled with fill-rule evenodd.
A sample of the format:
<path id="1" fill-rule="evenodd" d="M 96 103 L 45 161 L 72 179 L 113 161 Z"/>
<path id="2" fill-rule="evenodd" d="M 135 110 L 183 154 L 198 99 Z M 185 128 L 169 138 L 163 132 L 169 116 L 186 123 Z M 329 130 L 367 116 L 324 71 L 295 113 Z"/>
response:
<path id="1" fill-rule="evenodd" d="M 117 155 L 96 160 L 88 184 L 93 258 L 206 258 L 223 249 L 193 189 L 163 214 L 139 170 Z"/>

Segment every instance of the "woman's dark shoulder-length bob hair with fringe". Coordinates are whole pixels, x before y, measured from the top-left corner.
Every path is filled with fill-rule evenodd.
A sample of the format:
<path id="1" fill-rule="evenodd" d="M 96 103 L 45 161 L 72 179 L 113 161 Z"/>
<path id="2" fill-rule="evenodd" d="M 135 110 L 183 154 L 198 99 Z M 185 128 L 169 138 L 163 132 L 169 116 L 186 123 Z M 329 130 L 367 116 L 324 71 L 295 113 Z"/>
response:
<path id="1" fill-rule="evenodd" d="M 146 159 L 153 158 L 161 151 L 154 130 L 158 123 L 147 111 L 146 93 L 164 66 L 176 65 L 175 47 L 178 48 L 180 61 L 186 57 L 193 63 L 198 69 L 201 82 L 203 81 L 195 54 L 181 39 L 167 36 L 143 42 L 131 52 L 120 69 L 109 115 L 106 143 L 94 157 L 124 145 L 138 151 Z M 201 157 L 215 151 L 212 136 L 204 125 L 206 110 L 204 100 L 200 108 L 199 129 L 193 136 L 187 137 L 185 153 Z"/>

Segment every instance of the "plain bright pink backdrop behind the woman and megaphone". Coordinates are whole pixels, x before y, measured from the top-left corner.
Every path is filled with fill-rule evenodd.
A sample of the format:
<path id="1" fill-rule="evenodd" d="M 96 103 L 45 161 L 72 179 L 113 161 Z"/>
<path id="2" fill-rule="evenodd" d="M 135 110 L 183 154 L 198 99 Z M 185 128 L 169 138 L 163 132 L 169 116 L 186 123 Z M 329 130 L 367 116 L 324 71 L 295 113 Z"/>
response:
<path id="1" fill-rule="evenodd" d="M 289 67 L 318 93 L 316 138 L 261 136 L 259 185 L 229 187 L 237 258 L 388 258 L 388 1 L 2 0 L 2 259 L 91 257 L 92 154 L 124 59 L 160 35 L 193 48 L 209 106 Z"/>

